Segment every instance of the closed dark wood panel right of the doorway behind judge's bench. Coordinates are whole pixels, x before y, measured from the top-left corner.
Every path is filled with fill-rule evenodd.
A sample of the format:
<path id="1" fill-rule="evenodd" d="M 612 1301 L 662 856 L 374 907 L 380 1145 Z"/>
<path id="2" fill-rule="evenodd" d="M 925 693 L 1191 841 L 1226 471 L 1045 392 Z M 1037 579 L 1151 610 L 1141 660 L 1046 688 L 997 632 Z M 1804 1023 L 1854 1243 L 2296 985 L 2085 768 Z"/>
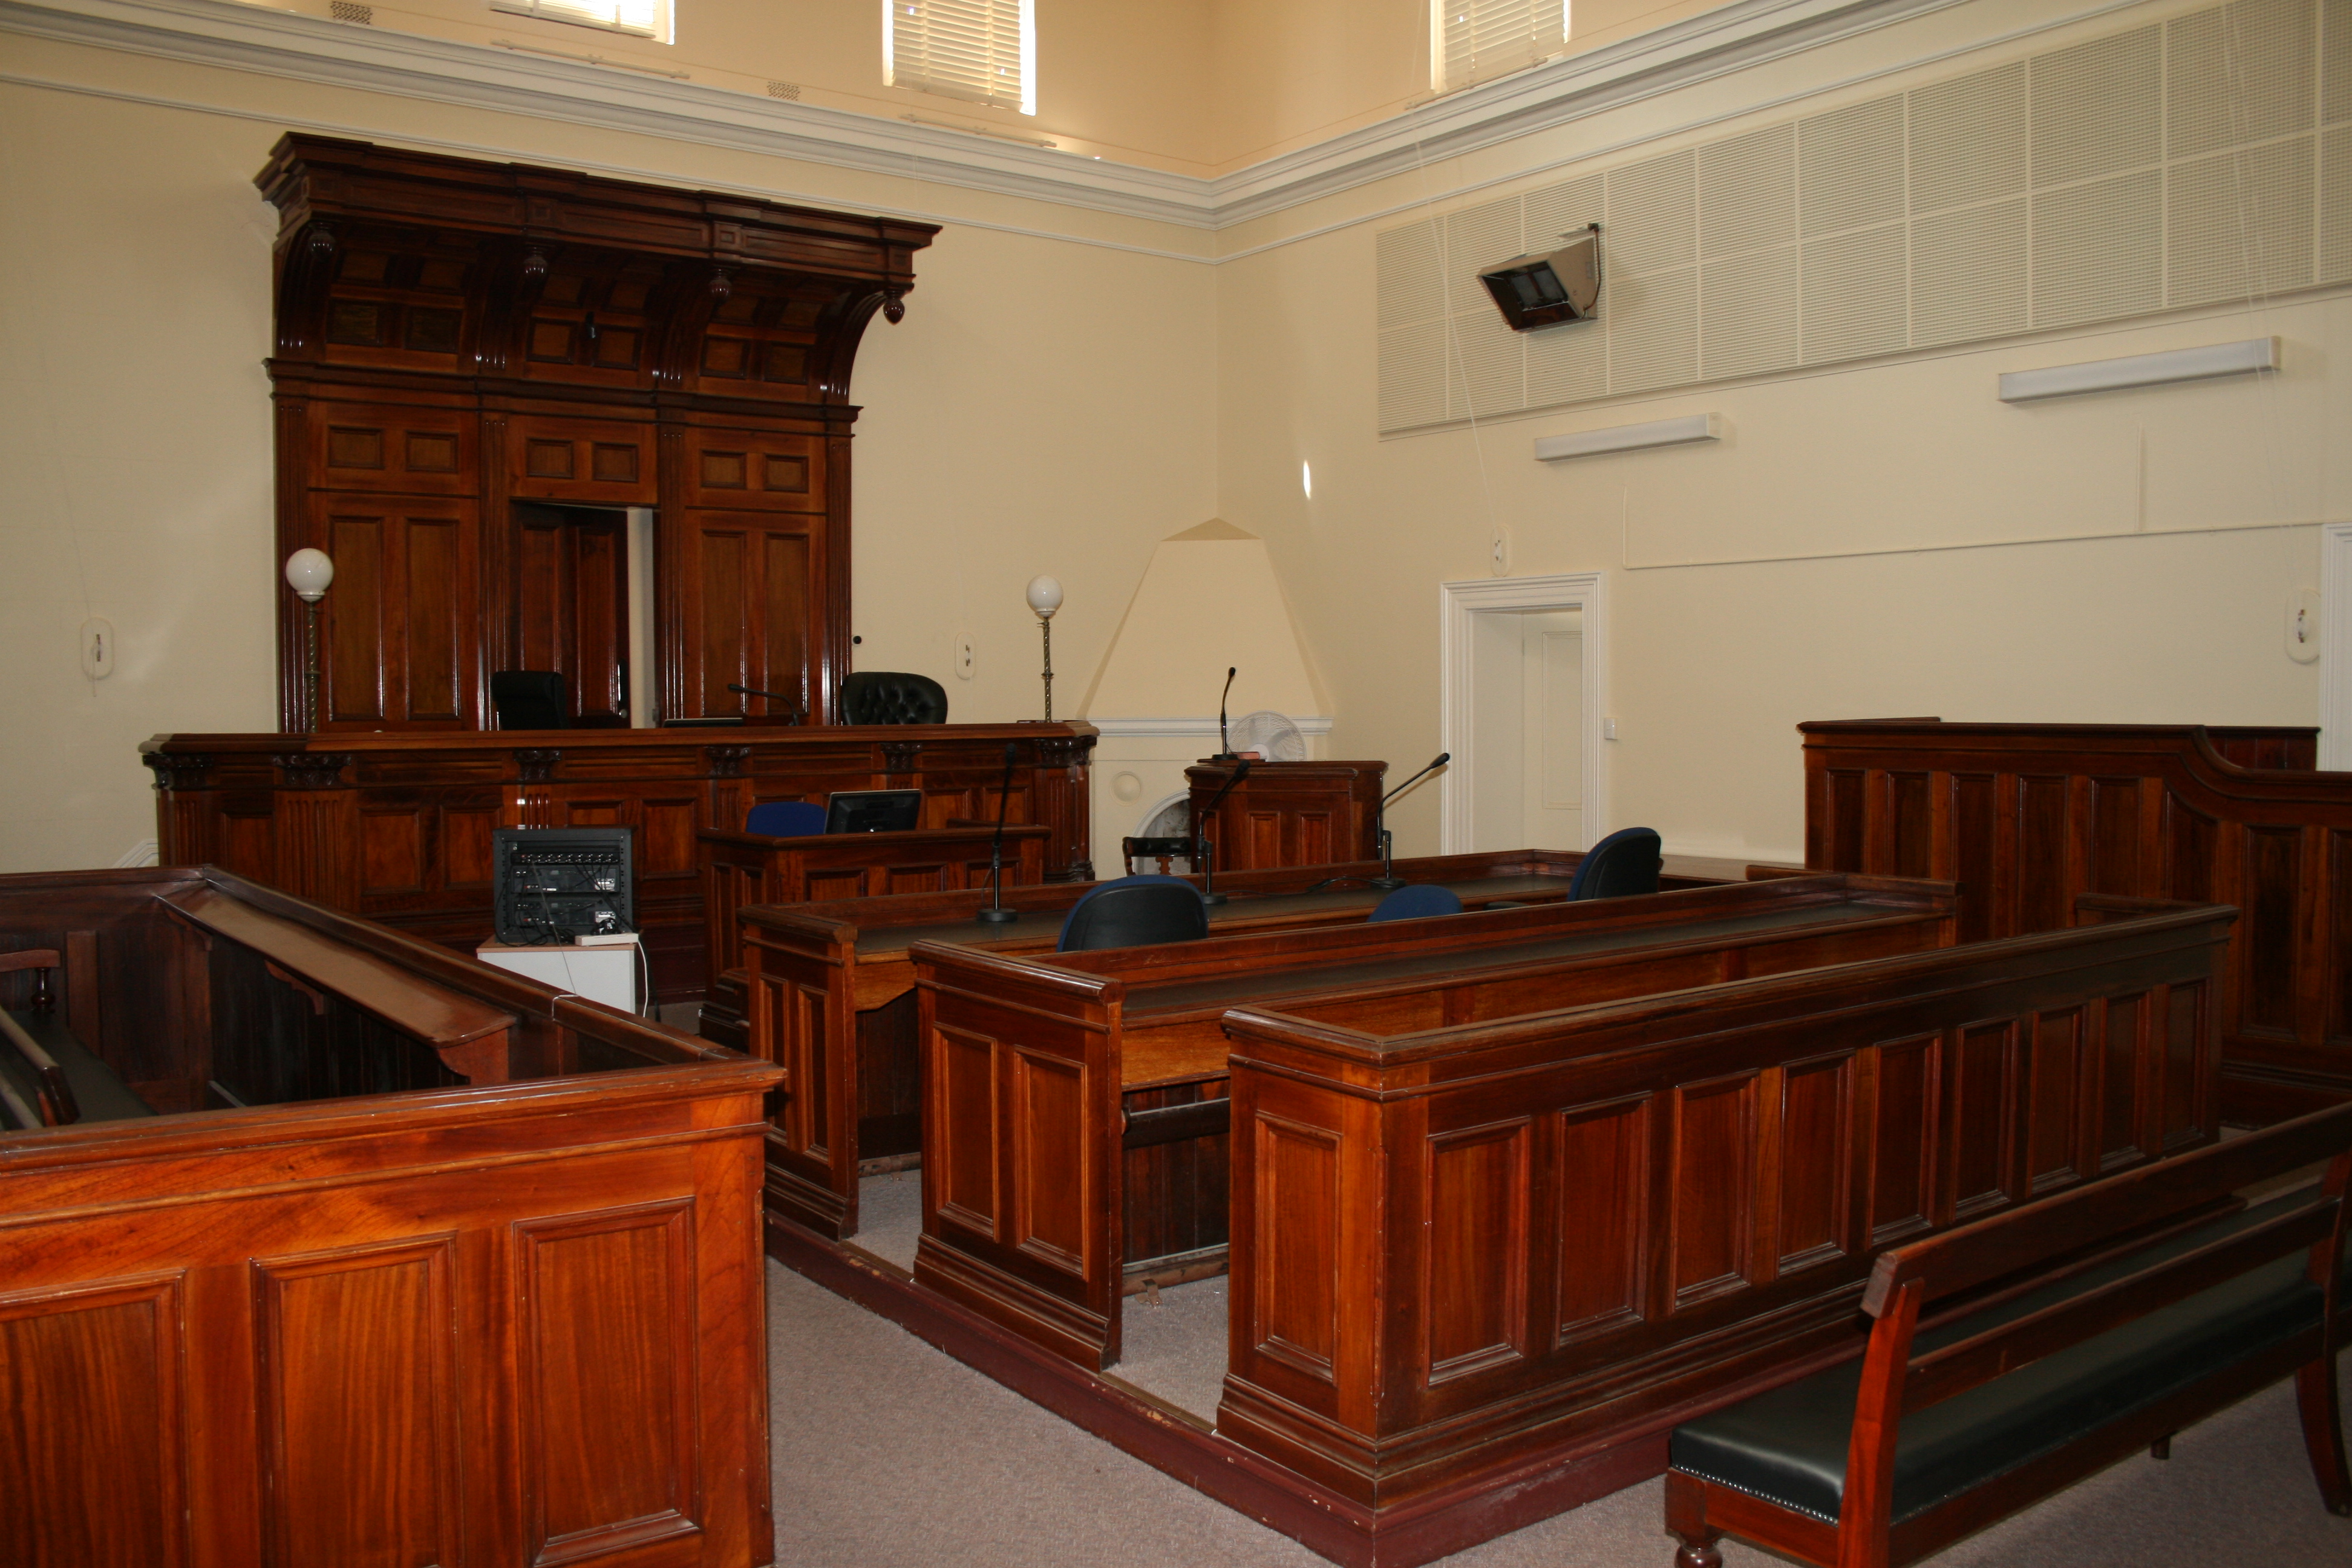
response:
<path id="1" fill-rule="evenodd" d="M 675 529 L 687 712 L 783 717 L 779 691 L 809 712 L 823 614 L 823 517 L 687 510 Z"/>

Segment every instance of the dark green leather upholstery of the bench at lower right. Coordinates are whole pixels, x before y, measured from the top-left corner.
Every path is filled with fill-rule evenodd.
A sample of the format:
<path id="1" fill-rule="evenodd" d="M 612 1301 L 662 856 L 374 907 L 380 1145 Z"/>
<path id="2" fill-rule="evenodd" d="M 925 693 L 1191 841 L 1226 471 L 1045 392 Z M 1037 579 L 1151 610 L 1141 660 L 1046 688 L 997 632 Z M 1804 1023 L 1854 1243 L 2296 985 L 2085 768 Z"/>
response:
<path id="1" fill-rule="evenodd" d="M 2246 1229 L 2298 1201 L 2307 1197 L 2286 1194 L 1969 1314 L 1922 1333 L 1912 1354 L 1983 1333 Z M 1931 1509 L 2310 1328 L 2319 1321 L 2324 1298 L 2319 1286 L 2305 1279 L 2307 1267 L 2305 1253 L 2279 1258 L 2006 1378 L 1905 1415 L 1896 1439 L 1893 1521 Z M 1668 1443 L 1670 1465 L 1835 1523 L 1846 1486 L 1846 1443 L 1853 1434 L 1860 1380 L 1863 1363 L 1853 1359 L 1684 1422 Z"/>

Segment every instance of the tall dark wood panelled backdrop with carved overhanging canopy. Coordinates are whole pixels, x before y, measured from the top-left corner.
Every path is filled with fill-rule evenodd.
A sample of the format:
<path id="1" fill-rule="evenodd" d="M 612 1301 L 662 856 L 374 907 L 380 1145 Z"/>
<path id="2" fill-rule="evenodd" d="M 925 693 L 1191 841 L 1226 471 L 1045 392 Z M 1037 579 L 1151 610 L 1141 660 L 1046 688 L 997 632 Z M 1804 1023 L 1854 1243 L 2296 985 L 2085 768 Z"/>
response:
<path id="1" fill-rule="evenodd" d="M 898 320 L 929 223 L 289 134 L 280 209 L 287 729 L 487 729 L 494 670 L 623 722 L 619 512 L 656 508 L 663 717 L 833 717 L 849 670 L 849 367 Z M 607 508 L 550 529 L 548 505 Z"/>

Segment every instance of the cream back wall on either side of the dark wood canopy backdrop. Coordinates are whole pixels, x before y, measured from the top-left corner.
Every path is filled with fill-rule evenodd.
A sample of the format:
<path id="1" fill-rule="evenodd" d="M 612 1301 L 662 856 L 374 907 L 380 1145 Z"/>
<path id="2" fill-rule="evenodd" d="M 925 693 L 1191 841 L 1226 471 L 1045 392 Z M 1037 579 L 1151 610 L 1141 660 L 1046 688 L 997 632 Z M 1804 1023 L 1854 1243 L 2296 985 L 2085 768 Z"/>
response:
<path id="1" fill-rule="evenodd" d="M 1068 585 L 1056 654 L 1084 689 L 1152 545 L 1214 505 L 1214 273 L 1197 233 L 917 181 L 795 167 L 515 115 L 71 45 L 0 85 L 0 870 L 106 865 L 155 835 L 136 745 L 275 724 L 268 378 L 275 212 L 252 188 L 292 125 L 682 186 L 929 212 L 908 315 L 854 395 L 861 668 L 943 677 L 957 719 L 1037 712 L 1023 583 Z M 21 47 L 19 47 L 21 45 Z M 111 96 L 99 96 L 99 92 Z M 205 103 L 167 108 L 129 94 Z M 1134 301 L 1155 301 L 1136 310 Z M 78 663 L 85 616 L 115 675 Z M 950 675 L 953 632 L 978 644 Z"/>

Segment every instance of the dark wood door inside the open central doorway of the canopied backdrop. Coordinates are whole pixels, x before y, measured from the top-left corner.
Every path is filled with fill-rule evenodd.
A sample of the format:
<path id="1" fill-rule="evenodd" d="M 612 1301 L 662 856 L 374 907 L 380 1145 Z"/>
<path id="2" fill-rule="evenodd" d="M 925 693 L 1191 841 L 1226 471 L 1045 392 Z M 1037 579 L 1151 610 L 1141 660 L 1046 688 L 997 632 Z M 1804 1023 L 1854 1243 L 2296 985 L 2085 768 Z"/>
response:
<path id="1" fill-rule="evenodd" d="M 517 670 L 564 677 L 581 726 L 628 724 L 628 515 L 515 503 Z"/>

